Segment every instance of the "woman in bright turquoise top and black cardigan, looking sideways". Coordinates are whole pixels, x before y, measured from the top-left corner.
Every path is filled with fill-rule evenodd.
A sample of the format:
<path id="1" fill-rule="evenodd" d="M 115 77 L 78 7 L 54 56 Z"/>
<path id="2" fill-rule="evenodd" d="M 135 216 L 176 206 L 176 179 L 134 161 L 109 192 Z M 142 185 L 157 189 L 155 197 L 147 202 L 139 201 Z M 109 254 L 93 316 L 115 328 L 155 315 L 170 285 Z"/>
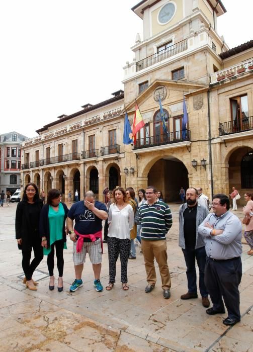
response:
<path id="1" fill-rule="evenodd" d="M 40 236 L 44 254 L 47 255 L 47 266 L 50 275 L 49 290 L 54 289 L 54 250 L 57 257 L 59 272 L 58 291 L 63 290 L 63 249 L 66 246 L 65 222 L 68 208 L 61 201 L 61 193 L 52 189 L 47 195 L 47 204 L 44 205 L 40 214 Z"/>

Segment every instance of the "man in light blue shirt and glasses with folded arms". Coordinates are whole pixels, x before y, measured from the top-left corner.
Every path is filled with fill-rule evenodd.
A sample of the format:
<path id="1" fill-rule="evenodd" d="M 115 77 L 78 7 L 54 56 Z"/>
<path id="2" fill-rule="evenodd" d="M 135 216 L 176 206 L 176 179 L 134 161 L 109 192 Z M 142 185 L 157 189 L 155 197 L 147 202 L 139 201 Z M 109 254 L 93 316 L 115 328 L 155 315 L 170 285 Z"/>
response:
<path id="1" fill-rule="evenodd" d="M 240 321 L 241 222 L 229 207 L 226 195 L 214 195 L 213 213 L 200 224 L 199 234 L 205 237 L 205 285 L 213 302 L 213 307 L 206 312 L 225 313 L 223 298 L 228 312 L 223 324 L 234 325 Z"/>

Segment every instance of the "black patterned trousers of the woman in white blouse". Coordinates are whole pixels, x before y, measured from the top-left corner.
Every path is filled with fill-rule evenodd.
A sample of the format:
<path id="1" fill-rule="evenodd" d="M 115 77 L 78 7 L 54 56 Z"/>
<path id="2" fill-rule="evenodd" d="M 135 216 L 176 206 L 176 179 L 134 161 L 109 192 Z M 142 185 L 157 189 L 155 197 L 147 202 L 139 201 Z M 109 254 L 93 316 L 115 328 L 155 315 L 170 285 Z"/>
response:
<path id="1" fill-rule="evenodd" d="M 109 282 L 115 283 L 116 262 L 120 255 L 121 282 L 127 283 L 127 263 L 130 252 L 130 239 L 108 237 Z"/>

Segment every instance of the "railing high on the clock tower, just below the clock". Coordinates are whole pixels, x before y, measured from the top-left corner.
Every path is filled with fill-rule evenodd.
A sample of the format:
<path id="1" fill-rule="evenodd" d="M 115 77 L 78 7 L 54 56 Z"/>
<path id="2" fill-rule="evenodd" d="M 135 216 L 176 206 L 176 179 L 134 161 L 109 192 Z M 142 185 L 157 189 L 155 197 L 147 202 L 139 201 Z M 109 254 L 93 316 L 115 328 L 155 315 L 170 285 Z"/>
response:
<path id="1" fill-rule="evenodd" d="M 188 49 L 187 39 L 136 62 L 136 72 Z"/>

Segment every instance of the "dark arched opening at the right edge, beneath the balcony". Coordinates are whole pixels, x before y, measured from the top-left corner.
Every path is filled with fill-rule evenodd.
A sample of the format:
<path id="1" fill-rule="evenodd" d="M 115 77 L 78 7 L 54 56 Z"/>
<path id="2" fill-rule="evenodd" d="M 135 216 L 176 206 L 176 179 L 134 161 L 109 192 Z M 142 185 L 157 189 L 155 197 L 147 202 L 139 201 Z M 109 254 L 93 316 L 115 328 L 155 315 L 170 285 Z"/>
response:
<path id="1" fill-rule="evenodd" d="M 235 149 L 228 159 L 229 193 L 232 187 L 238 190 L 241 199 L 237 204 L 243 204 L 243 194 L 253 192 L 253 149 L 240 147 Z"/>

